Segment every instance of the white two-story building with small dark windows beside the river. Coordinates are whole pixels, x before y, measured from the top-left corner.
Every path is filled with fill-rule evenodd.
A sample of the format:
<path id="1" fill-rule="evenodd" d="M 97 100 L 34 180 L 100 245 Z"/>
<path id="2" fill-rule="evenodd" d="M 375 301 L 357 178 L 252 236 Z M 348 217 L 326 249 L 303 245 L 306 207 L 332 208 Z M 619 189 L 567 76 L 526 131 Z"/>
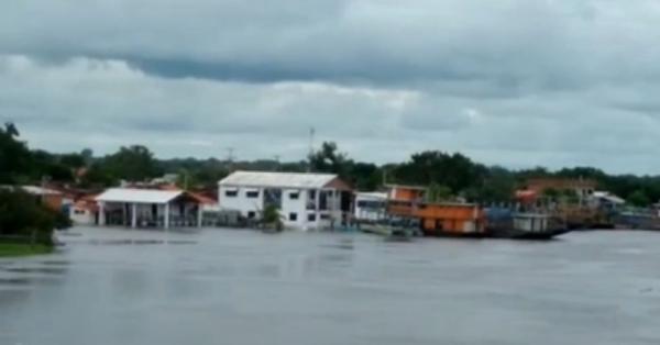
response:
<path id="1" fill-rule="evenodd" d="M 237 171 L 218 185 L 220 209 L 258 220 L 272 204 L 290 229 L 340 226 L 351 210 L 351 188 L 332 174 Z"/>

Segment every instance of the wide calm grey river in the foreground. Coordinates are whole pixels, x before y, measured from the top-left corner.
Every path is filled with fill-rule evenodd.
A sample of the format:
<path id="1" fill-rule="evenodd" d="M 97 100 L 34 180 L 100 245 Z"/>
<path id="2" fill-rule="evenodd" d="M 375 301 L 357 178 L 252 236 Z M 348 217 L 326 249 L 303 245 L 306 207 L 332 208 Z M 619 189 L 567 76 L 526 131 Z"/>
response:
<path id="1" fill-rule="evenodd" d="M 0 344 L 660 344 L 660 233 L 69 233 L 0 259 Z"/>

